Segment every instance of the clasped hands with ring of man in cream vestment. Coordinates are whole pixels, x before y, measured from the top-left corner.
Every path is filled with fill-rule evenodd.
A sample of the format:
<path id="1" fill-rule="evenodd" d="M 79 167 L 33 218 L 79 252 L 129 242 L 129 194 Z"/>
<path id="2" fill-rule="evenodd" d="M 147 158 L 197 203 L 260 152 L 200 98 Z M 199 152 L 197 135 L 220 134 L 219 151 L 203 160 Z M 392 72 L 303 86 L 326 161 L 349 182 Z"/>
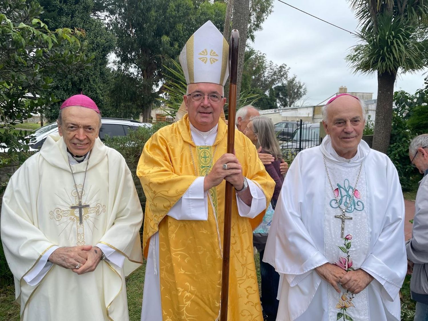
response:
<path id="1" fill-rule="evenodd" d="M 95 270 L 101 256 L 101 249 L 92 245 L 59 247 L 52 252 L 48 261 L 62 268 L 71 269 L 77 274 L 83 274 Z"/>

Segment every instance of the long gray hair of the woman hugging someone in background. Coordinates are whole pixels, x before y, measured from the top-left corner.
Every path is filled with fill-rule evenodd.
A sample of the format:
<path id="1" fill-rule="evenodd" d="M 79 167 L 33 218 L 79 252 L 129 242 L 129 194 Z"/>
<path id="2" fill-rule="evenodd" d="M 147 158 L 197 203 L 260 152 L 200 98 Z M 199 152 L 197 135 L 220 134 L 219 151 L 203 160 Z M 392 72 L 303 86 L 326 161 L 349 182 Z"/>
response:
<path id="1" fill-rule="evenodd" d="M 268 154 L 276 159 L 281 159 L 281 149 L 275 135 L 273 122 L 266 116 L 253 116 L 250 118 L 250 122 L 253 122 L 253 131 L 257 136 L 257 148 L 262 146 L 262 149 Z"/>

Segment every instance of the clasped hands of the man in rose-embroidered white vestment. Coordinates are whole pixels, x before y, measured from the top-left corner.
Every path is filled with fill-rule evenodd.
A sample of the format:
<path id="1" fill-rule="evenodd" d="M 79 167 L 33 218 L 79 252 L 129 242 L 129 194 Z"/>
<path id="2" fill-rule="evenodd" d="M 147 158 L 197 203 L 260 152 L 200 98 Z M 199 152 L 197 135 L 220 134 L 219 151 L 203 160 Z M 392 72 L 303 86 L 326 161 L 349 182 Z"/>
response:
<path id="1" fill-rule="evenodd" d="M 338 293 L 341 293 L 338 283 L 341 284 L 342 288 L 345 290 L 357 294 L 363 291 L 373 280 L 373 276 L 365 270 L 357 269 L 346 272 L 342 268 L 331 263 L 320 265 L 315 268 L 315 271 L 321 276 L 321 279 L 330 283 Z"/>

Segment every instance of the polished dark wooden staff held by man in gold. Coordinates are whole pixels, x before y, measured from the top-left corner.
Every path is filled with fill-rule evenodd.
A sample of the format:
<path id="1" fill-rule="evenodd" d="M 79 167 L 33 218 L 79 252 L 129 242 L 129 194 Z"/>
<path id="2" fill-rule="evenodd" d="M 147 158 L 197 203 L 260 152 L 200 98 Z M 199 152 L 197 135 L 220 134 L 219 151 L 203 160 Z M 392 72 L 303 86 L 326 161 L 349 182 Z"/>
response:
<path id="1" fill-rule="evenodd" d="M 235 112 L 236 112 L 236 80 L 238 78 L 239 31 L 234 29 L 230 35 L 230 87 L 229 87 L 229 121 L 227 123 L 227 152 L 234 154 L 235 149 Z M 229 300 L 229 259 L 230 259 L 230 227 L 232 224 L 233 186 L 226 181 L 224 202 L 223 229 L 223 273 L 221 278 L 220 321 L 227 321 L 227 304 Z"/>

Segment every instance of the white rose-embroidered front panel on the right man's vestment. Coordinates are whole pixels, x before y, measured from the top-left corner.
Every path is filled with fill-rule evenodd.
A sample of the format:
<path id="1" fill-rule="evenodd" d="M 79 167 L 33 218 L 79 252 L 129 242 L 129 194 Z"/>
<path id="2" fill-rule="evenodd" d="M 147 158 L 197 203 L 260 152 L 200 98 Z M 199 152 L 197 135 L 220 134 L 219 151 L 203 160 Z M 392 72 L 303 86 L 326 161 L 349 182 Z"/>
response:
<path id="1" fill-rule="evenodd" d="M 342 214 L 342 210 L 338 207 L 333 190 L 330 187 L 330 182 L 325 180 L 324 186 L 324 248 L 325 257 L 328 262 L 336 262 L 336 265 L 347 270 L 352 268 L 357 270 L 361 267 L 366 259 L 369 251 L 369 223 L 367 213 L 370 210 L 367 205 L 367 186 L 366 186 L 366 172 L 361 169 L 360 178 L 355 191 L 355 182 L 357 180 L 358 172 L 360 171 L 360 162 L 354 162 L 354 166 L 349 164 L 346 167 L 337 166 L 336 163 L 326 160 L 328 172 L 330 175 L 331 183 L 335 189 L 339 205 L 346 208 L 345 215 L 352 217 L 352 220 L 345 220 L 344 236 L 352 235 L 351 240 L 346 240 L 346 244 L 350 244 L 349 249 L 344 246 L 344 239 L 341 238 L 342 220 L 336 218 L 335 215 Z M 364 164 L 363 164 L 364 166 Z M 354 195 L 354 196 L 353 196 Z M 349 202 L 351 202 L 350 205 Z M 349 237 L 348 237 L 349 238 Z M 342 248 L 342 250 L 341 250 Z M 349 254 L 349 259 L 347 253 Z M 351 266 L 350 266 L 351 265 Z M 367 290 L 363 290 L 359 294 L 351 298 L 351 293 L 347 293 L 345 289 L 339 287 L 342 293 L 339 294 L 335 289 L 328 287 L 328 315 L 329 320 L 336 320 L 338 313 L 342 317 L 338 320 L 369 320 L 369 303 L 367 298 Z M 348 304 L 346 300 L 340 301 L 341 297 L 351 299 Z M 345 298 L 343 297 L 343 298 Z M 349 307 L 337 308 L 337 304 L 346 304 Z M 345 319 L 346 315 L 348 318 Z"/>

